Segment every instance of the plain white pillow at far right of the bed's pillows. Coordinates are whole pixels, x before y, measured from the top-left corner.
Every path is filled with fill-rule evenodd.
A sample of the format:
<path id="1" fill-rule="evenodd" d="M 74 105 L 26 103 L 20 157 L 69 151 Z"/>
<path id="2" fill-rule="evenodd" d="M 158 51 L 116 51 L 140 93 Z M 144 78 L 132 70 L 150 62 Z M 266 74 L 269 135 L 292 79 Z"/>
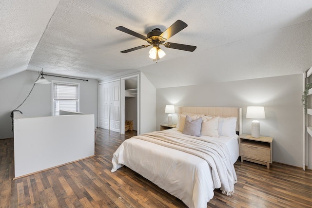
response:
<path id="1" fill-rule="evenodd" d="M 235 137 L 236 135 L 236 117 L 219 118 L 219 135 Z"/>

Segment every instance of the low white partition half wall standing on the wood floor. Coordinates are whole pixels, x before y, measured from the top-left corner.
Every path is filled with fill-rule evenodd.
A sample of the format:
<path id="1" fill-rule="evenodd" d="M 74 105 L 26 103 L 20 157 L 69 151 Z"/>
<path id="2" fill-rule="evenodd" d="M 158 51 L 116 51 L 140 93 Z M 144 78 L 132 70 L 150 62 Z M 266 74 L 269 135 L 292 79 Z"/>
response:
<path id="1" fill-rule="evenodd" d="M 94 115 L 14 119 L 15 177 L 93 156 Z"/>

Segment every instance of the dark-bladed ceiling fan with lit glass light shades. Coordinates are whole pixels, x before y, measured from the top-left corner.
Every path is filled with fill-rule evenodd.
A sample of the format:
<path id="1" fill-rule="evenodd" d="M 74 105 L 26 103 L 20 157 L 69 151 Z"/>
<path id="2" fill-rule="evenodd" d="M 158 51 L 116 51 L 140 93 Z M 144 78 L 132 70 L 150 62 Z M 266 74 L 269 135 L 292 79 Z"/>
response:
<path id="1" fill-rule="evenodd" d="M 173 23 L 169 28 L 167 28 L 165 32 L 162 32 L 159 28 L 155 28 L 154 30 L 149 32 L 146 36 L 138 34 L 123 26 L 116 27 L 116 29 L 120 30 L 121 32 L 128 33 L 129 35 L 135 36 L 137 38 L 141 38 L 143 40 L 146 40 L 149 43 L 149 45 L 141 45 L 141 46 L 137 46 L 135 48 L 130 48 L 128 50 L 124 50 L 120 52 L 128 53 L 131 51 L 135 51 L 135 50 L 146 48 L 150 45 L 153 45 L 153 48 L 150 50 L 149 57 L 155 60 L 156 62 L 157 62 L 157 59 L 162 58 L 166 55 L 165 52 L 159 48 L 159 45 L 164 45 L 166 48 L 173 48 L 173 49 L 193 52 L 196 49 L 196 46 L 184 45 L 184 44 L 173 43 L 173 42 L 166 42 L 167 39 L 173 37 L 174 35 L 176 35 L 178 32 L 180 32 L 186 27 L 187 27 L 187 24 L 184 21 L 176 20 L 176 22 Z"/>

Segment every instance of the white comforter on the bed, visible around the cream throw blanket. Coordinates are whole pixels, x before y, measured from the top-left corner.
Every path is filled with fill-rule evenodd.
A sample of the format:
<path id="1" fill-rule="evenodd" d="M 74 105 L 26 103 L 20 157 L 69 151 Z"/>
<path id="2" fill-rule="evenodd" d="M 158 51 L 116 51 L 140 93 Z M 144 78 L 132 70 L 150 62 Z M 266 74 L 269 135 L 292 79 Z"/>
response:
<path id="1" fill-rule="evenodd" d="M 181 134 L 176 129 L 166 131 Z M 206 138 L 226 144 L 234 164 L 239 154 L 237 138 Z M 181 199 L 190 208 L 206 208 L 207 202 L 214 196 L 211 168 L 206 160 L 193 154 L 131 138 L 119 146 L 112 162 L 112 172 L 126 165 Z"/>

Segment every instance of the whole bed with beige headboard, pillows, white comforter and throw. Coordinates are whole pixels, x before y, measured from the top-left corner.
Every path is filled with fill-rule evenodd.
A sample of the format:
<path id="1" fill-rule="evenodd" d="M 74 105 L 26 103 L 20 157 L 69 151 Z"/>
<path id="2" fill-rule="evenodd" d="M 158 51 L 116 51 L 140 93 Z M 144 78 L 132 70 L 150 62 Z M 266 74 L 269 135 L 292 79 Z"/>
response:
<path id="1" fill-rule="evenodd" d="M 214 189 L 220 188 L 227 195 L 234 193 L 241 108 L 179 107 L 178 115 L 177 128 L 125 140 L 113 155 L 111 171 L 125 165 L 179 198 L 189 208 L 206 208 L 214 196 Z M 191 117 L 191 122 L 200 118 L 202 125 L 203 119 L 214 123 L 218 119 L 218 135 L 208 136 L 207 132 L 201 132 L 199 137 L 184 134 L 189 122 L 183 124 L 183 117 Z"/>

